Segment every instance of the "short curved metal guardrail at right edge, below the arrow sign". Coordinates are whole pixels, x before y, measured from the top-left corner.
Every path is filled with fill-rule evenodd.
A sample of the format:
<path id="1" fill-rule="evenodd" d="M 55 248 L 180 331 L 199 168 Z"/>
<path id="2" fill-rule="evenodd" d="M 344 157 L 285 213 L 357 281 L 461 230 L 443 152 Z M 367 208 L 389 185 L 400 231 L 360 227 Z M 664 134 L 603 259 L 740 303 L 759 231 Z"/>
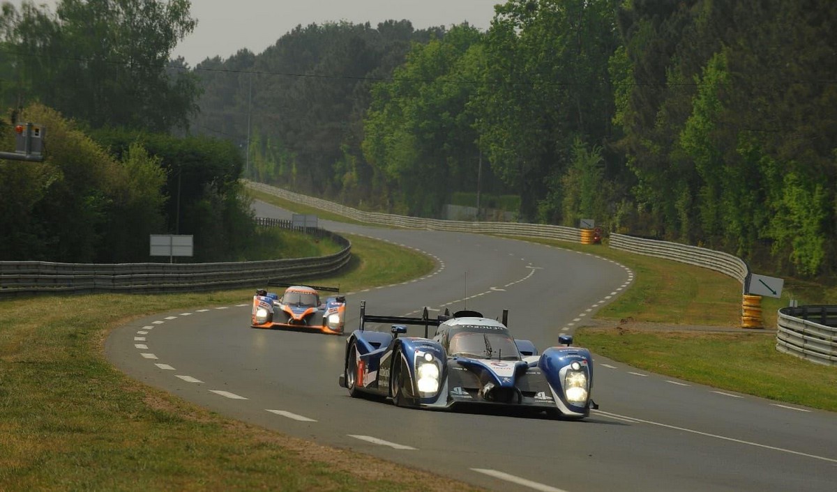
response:
<path id="1" fill-rule="evenodd" d="M 837 305 L 780 309 L 776 350 L 825 366 L 837 366 Z"/>

